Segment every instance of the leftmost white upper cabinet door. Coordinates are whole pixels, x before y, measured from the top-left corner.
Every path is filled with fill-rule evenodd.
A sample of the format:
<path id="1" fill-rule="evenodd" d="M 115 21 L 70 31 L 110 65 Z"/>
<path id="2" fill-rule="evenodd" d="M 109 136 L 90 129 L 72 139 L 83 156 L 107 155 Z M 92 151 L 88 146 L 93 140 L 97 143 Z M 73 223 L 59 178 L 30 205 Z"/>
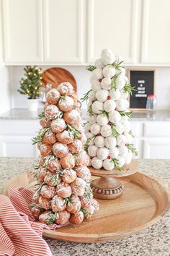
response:
<path id="1" fill-rule="evenodd" d="M 6 63 L 42 61 L 42 1 L 4 0 Z"/>

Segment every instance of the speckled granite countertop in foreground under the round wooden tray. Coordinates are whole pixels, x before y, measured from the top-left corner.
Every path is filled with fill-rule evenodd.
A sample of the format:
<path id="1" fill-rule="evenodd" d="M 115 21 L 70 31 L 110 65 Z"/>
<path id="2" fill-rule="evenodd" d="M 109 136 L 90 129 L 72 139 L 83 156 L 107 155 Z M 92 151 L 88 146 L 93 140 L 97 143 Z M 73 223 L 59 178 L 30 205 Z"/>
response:
<path id="1" fill-rule="evenodd" d="M 6 182 L 35 165 L 35 158 L 0 158 L 0 189 Z M 169 160 L 139 160 L 143 173 L 169 181 Z M 170 188 L 170 187 L 169 187 Z M 125 239 L 99 244 L 76 244 L 45 238 L 53 256 L 169 256 L 170 212 L 153 226 Z"/>

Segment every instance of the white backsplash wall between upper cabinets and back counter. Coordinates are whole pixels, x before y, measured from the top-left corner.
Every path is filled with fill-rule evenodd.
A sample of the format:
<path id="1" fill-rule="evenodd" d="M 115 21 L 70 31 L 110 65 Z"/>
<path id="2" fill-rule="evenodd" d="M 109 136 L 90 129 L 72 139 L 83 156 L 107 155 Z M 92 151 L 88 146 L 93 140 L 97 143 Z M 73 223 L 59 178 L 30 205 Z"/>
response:
<path id="1" fill-rule="evenodd" d="M 42 67 L 43 70 L 48 68 L 49 67 Z M 63 68 L 68 69 L 76 78 L 76 82 L 78 85 L 79 98 L 81 98 L 82 95 L 86 93 L 87 90 L 90 89 L 90 83 L 89 83 L 90 72 L 88 72 L 86 70 L 86 67 L 84 66 L 83 67 L 82 66 L 74 66 L 74 67 L 65 66 Z M 10 67 L 10 69 L 11 69 L 11 80 L 12 80 L 12 108 L 27 108 L 26 96 L 21 95 L 17 92 L 17 89 L 19 89 L 19 80 L 21 79 L 21 77 L 23 77 L 23 74 L 24 74 L 23 67 L 13 66 L 13 67 Z M 156 96 L 157 96 L 157 102 L 158 102 L 157 108 L 170 109 L 170 67 L 156 68 L 155 89 L 156 89 Z M 6 96 L 7 96 L 7 93 L 6 93 Z M 86 108 L 86 103 L 83 103 L 82 108 Z"/>

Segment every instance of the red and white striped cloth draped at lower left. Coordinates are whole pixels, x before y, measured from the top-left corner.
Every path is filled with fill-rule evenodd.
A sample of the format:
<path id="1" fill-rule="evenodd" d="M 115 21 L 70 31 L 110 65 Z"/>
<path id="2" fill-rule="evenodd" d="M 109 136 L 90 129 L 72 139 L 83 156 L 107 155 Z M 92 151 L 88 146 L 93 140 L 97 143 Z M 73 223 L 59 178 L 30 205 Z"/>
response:
<path id="1" fill-rule="evenodd" d="M 51 256 L 48 244 L 42 239 L 45 224 L 35 221 L 28 207 L 33 191 L 10 187 L 9 197 L 0 195 L 0 255 Z M 53 226 L 55 229 L 60 226 Z"/>

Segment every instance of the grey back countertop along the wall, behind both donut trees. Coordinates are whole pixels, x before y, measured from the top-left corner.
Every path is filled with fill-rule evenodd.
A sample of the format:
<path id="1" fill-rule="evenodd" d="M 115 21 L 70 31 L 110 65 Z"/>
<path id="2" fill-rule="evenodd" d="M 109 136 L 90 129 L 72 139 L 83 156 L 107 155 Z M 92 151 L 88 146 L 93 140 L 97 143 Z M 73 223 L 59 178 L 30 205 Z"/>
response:
<path id="1" fill-rule="evenodd" d="M 0 114 L 0 120 L 36 120 L 37 115 L 42 112 L 42 108 L 38 111 L 28 111 L 27 108 L 12 108 L 11 110 Z M 86 109 L 81 109 L 81 116 L 86 120 Z M 170 121 L 170 110 L 156 110 L 145 112 L 133 112 L 131 116 L 133 121 Z"/>

